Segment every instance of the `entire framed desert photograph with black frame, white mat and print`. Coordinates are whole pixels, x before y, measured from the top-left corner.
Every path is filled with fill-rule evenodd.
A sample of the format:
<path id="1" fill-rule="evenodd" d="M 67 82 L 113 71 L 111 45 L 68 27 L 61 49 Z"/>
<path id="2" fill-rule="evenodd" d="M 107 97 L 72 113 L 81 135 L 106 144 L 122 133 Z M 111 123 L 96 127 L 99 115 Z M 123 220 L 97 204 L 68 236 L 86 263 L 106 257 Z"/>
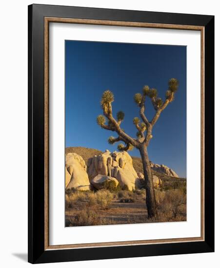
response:
<path id="1" fill-rule="evenodd" d="M 214 16 L 28 7 L 28 261 L 214 251 Z"/>

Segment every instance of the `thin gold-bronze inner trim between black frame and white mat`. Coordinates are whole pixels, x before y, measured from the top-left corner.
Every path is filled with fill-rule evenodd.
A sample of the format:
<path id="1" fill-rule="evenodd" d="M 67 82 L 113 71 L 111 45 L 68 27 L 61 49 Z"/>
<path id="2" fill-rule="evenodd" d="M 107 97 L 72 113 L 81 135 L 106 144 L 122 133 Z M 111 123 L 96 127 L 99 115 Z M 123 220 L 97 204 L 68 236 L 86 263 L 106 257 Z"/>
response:
<path id="1" fill-rule="evenodd" d="M 127 27 L 180 29 L 200 31 L 201 36 L 201 234 L 200 237 L 103 242 L 71 245 L 49 245 L 49 23 L 77 23 L 93 25 L 112 25 Z M 147 245 L 162 243 L 204 241 L 204 27 L 194 25 L 159 24 L 130 21 L 95 20 L 95 19 L 68 19 L 68 18 L 44 18 L 44 249 L 76 249 L 110 246 Z"/>

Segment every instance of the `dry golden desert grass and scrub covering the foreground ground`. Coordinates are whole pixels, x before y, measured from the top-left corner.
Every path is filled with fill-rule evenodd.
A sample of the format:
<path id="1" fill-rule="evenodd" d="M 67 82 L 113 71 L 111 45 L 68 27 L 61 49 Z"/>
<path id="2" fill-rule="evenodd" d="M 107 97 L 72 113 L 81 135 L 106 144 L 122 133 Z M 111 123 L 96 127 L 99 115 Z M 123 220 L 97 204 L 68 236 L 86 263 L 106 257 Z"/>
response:
<path id="1" fill-rule="evenodd" d="M 186 220 L 186 194 L 155 190 L 157 216 L 147 218 L 145 191 L 71 192 L 66 194 L 66 226 L 178 222 Z"/>

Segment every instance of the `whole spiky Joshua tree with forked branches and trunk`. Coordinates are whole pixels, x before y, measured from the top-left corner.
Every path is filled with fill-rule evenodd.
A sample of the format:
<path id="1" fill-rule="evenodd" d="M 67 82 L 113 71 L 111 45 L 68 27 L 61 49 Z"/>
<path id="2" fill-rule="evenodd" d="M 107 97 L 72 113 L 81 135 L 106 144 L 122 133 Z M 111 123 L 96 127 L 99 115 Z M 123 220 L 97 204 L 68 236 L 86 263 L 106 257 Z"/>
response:
<path id="1" fill-rule="evenodd" d="M 146 206 L 148 217 L 155 217 L 157 213 L 155 193 L 153 187 L 153 180 L 151 174 L 150 161 L 148 158 L 147 147 L 151 140 L 152 136 L 152 128 L 155 123 L 158 121 L 161 112 L 167 107 L 167 105 L 174 100 L 174 94 L 177 91 L 179 86 L 179 82 L 176 78 L 171 78 L 168 82 L 168 90 L 166 91 L 166 98 L 162 101 L 161 98 L 158 97 L 157 90 L 149 86 L 143 87 L 142 94 L 137 93 L 134 96 L 134 100 L 140 108 L 140 119 L 135 117 L 133 119 L 133 123 L 136 126 L 137 138 L 133 138 L 125 133 L 123 129 L 121 129 L 120 124 L 124 119 L 124 113 L 122 111 L 117 113 L 117 118 L 115 119 L 112 115 L 112 102 L 114 101 L 114 95 L 111 91 L 106 90 L 101 97 L 101 107 L 103 110 L 103 115 L 99 115 L 97 117 L 97 123 L 101 128 L 115 131 L 118 134 L 118 137 L 109 137 L 109 144 L 114 144 L 115 142 L 122 141 L 125 145 L 119 144 L 119 151 L 128 151 L 132 150 L 133 147 L 136 147 L 140 151 L 142 164 L 143 164 L 143 173 L 144 173 L 144 182 L 146 189 Z M 145 99 L 146 96 L 151 99 L 152 105 L 155 109 L 155 115 L 151 121 L 149 121 L 144 114 L 145 111 Z M 107 124 L 106 124 L 107 119 Z"/>

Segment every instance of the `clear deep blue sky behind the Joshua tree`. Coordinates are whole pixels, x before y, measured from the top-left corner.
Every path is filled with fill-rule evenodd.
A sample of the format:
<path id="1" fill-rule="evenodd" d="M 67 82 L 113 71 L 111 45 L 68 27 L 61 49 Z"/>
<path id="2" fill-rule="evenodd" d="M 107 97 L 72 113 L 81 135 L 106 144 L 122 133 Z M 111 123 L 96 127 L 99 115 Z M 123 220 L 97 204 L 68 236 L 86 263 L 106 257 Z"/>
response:
<path id="1" fill-rule="evenodd" d="M 153 128 L 148 147 L 149 158 L 186 177 L 186 47 L 65 41 L 65 137 L 66 147 L 82 146 L 101 151 L 117 150 L 108 137 L 116 133 L 103 130 L 96 123 L 102 114 L 100 98 L 109 89 L 114 93 L 113 115 L 122 110 L 121 127 L 136 137 L 132 119 L 139 116 L 133 96 L 142 87 L 157 88 L 164 99 L 168 80 L 177 78 L 180 87 L 175 100 L 162 112 Z M 155 110 L 146 102 L 146 116 Z M 137 149 L 129 152 L 139 156 Z"/>

